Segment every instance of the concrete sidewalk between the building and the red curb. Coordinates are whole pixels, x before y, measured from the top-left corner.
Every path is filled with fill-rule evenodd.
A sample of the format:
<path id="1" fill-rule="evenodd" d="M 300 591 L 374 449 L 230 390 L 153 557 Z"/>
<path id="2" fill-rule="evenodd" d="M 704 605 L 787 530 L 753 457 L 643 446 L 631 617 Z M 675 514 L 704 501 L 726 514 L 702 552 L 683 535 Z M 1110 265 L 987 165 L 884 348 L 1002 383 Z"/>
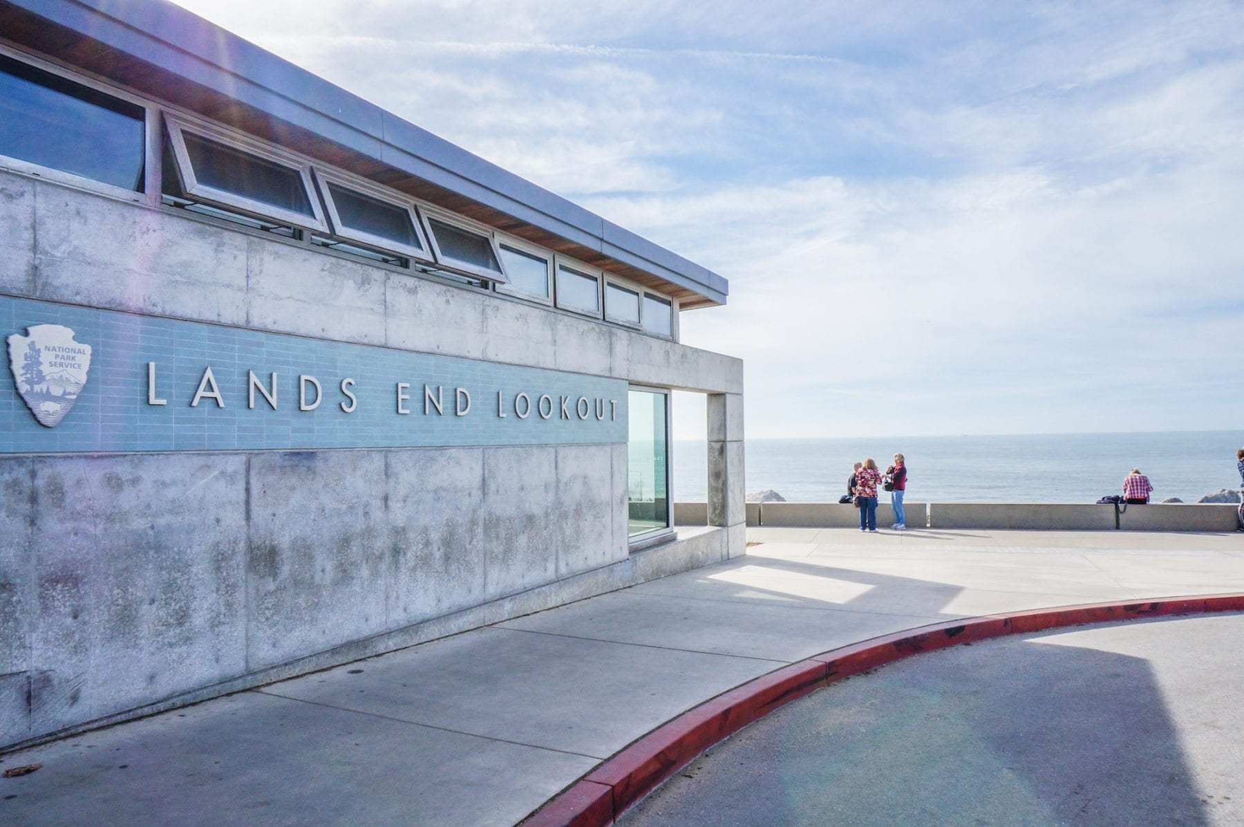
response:
<path id="1" fill-rule="evenodd" d="M 2 757 L 12 823 L 514 823 L 666 720 L 929 623 L 1244 590 L 1240 534 L 750 529 L 744 558 Z"/>

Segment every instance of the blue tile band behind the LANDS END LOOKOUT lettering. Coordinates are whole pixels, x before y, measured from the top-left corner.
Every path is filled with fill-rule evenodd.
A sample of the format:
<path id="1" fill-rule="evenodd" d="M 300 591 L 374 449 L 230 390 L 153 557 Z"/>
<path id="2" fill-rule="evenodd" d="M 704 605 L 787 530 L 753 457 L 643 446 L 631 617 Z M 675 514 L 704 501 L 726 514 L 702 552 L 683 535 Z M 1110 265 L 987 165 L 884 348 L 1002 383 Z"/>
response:
<path id="1" fill-rule="evenodd" d="M 86 386 L 56 427 L 36 421 L 9 366 L 9 335 L 41 324 L 70 328 L 91 346 Z M 7 296 L 0 296 L 0 453 L 627 441 L 624 380 L 539 367 Z M 223 407 L 204 379 L 209 367 Z M 258 379 L 253 409 L 249 371 Z M 264 395 L 274 372 L 275 410 Z M 309 406 L 317 396 L 300 376 L 320 385 L 313 410 L 300 410 L 300 387 Z"/>

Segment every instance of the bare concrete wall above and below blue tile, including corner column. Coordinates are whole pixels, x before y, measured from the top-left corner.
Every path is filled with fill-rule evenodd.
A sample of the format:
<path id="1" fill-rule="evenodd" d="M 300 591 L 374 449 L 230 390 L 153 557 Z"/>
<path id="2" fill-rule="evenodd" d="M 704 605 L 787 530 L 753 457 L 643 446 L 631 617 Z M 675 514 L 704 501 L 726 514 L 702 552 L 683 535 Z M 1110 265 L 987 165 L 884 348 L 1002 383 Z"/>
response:
<path id="1" fill-rule="evenodd" d="M 0 294 L 741 402 L 735 359 L 7 172 Z M 743 553 L 720 441 L 723 526 L 633 554 L 624 443 L 0 455 L 0 747 Z"/>

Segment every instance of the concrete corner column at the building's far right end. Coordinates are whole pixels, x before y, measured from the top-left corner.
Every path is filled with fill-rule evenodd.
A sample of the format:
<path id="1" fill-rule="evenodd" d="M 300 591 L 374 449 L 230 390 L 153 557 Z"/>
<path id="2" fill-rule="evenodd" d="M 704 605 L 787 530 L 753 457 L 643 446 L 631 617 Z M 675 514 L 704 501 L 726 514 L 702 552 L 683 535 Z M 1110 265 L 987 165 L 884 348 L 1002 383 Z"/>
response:
<path id="1" fill-rule="evenodd" d="M 708 524 L 728 529 L 726 555 L 746 551 L 743 395 L 708 396 Z"/>

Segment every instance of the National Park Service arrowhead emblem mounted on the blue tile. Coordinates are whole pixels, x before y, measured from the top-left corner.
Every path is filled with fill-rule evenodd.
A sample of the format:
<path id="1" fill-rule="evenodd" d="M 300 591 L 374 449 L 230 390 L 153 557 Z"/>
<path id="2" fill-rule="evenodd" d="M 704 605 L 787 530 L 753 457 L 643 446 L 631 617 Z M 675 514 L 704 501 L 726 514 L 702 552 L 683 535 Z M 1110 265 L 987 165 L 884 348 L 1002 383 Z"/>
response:
<path id="1" fill-rule="evenodd" d="M 40 425 L 56 427 L 77 402 L 91 369 L 91 345 L 62 325 L 31 325 L 9 336 L 9 367 L 17 392 Z"/>

